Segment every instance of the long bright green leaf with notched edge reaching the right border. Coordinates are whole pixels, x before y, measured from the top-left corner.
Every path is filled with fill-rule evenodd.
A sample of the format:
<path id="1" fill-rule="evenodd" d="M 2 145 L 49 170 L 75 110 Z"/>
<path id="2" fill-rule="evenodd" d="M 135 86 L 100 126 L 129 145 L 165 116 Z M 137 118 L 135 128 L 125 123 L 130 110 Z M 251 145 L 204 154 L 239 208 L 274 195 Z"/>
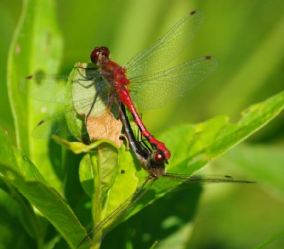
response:
<path id="1" fill-rule="evenodd" d="M 249 135 L 258 131 L 277 116 L 284 108 L 284 92 L 246 109 L 238 123 L 229 123 L 229 118 L 217 116 L 204 123 L 182 125 L 165 131 L 157 136 L 172 153 L 167 172 L 193 175 L 211 160 L 223 155 Z M 140 180 L 145 172 L 137 172 Z M 180 182 L 168 181 L 160 177 L 151 191 L 127 212 L 126 218 L 141 210 L 153 200 L 178 187 Z"/>

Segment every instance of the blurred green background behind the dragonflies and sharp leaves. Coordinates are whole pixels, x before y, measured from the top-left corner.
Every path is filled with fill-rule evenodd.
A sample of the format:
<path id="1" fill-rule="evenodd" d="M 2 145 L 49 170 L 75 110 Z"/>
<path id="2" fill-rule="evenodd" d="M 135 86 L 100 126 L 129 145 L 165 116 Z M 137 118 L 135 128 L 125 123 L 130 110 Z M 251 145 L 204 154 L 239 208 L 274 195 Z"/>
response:
<path id="1" fill-rule="evenodd" d="M 0 1 L 0 126 L 13 140 L 6 65 L 21 6 L 21 1 Z M 283 0 L 63 0 L 57 7 L 65 43 L 61 74 L 68 74 L 75 62 L 89 62 L 89 53 L 96 45 L 109 47 L 112 59 L 125 65 L 186 13 L 195 9 L 204 12 L 197 37 L 173 65 L 213 55 L 219 67 L 182 99 L 162 109 L 144 111 L 143 120 L 153 133 L 220 114 L 236 122 L 247 106 L 283 90 Z M 246 144 L 210 165 L 210 173 L 241 176 L 258 184 L 207 185 L 188 247 L 252 248 L 284 230 L 283 120 L 280 114 Z M 267 248 L 283 248 L 283 244 L 282 238 Z"/>

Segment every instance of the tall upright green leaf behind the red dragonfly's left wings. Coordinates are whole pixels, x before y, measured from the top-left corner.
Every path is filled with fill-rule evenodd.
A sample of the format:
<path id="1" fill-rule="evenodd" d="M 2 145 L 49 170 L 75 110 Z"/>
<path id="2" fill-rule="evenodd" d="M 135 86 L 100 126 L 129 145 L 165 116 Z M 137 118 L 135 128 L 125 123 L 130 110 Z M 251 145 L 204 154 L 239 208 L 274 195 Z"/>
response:
<path id="1" fill-rule="evenodd" d="M 35 101 L 18 87 L 29 74 L 58 72 L 62 57 L 62 38 L 56 22 L 55 1 L 23 1 L 20 21 L 13 35 L 9 50 L 8 87 L 9 100 L 16 127 L 17 145 L 55 189 L 62 188 L 46 151 L 53 150 L 48 140 L 31 137 L 35 125 L 53 114 L 58 106 Z M 29 85 L 28 88 L 33 88 Z M 54 158 L 53 158 L 54 160 Z"/>

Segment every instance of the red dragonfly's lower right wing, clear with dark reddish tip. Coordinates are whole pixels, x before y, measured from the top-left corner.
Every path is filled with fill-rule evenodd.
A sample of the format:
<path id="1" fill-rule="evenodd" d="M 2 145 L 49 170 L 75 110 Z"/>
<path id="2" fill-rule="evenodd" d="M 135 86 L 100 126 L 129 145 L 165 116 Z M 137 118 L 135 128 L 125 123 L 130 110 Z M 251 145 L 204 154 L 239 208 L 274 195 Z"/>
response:
<path id="1" fill-rule="evenodd" d="M 131 81 L 131 98 L 138 109 L 165 106 L 202 82 L 217 65 L 214 57 L 200 57 L 170 70 L 138 77 Z"/>

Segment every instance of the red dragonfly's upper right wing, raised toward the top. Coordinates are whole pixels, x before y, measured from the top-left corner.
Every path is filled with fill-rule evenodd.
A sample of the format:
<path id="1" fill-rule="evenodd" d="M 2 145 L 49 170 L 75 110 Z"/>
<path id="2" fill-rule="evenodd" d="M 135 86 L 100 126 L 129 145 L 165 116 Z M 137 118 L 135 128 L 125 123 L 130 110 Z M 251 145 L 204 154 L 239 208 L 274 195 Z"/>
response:
<path id="1" fill-rule="evenodd" d="M 202 11 L 192 11 L 153 45 L 142 50 L 126 65 L 129 79 L 157 72 L 172 62 L 194 38 L 203 21 Z"/>

